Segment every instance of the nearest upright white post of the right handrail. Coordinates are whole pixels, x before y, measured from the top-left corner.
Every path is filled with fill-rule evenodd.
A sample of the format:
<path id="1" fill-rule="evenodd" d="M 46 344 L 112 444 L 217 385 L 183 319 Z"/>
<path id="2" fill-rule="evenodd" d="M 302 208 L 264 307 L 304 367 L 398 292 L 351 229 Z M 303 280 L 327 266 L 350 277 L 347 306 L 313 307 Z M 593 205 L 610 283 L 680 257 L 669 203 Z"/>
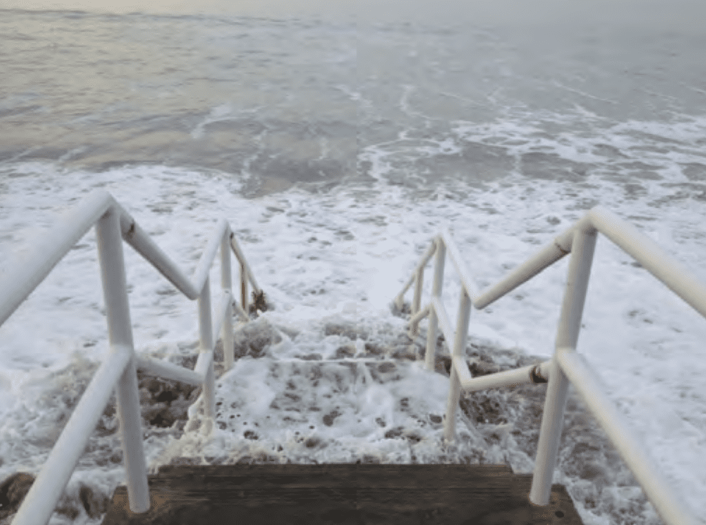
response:
<path id="1" fill-rule="evenodd" d="M 587 230 L 579 228 L 574 232 L 566 291 L 556 334 L 556 349 L 551 360 L 549 385 L 546 389 L 544 414 L 537 444 L 537 459 L 535 459 L 534 476 L 532 476 L 530 501 L 534 505 L 549 504 L 551 480 L 556 466 L 569 386 L 569 380 L 559 366 L 557 353 L 560 348 L 571 351 L 576 348 L 596 237 L 597 231 L 593 228 Z"/>

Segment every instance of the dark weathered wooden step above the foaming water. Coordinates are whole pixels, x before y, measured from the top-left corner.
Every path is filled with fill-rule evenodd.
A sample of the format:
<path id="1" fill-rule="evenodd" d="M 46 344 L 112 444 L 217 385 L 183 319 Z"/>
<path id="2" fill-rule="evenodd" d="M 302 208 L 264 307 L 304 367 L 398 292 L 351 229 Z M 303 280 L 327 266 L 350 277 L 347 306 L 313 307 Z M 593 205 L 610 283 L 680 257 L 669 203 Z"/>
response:
<path id="1" fill-rule="evenodd" d="M 103 525 L 582 525 L 563 485 L 546 507 L 532 475 L 504 465 L 257 464 L 165 466 L 150 510 L 116 488 Z"/>

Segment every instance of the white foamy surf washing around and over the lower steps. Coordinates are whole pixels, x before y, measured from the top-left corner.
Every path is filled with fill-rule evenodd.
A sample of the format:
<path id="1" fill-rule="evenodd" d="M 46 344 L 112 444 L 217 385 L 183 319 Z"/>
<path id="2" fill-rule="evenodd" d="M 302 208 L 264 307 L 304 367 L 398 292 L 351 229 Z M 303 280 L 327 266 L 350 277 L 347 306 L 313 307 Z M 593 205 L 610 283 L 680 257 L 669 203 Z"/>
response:
<path id="1" fill-rule="evenodd" d="M 1 200 L 3 253 L 21 253 L 32 238 L 41 237 L 56 211 L 75 205 L 96 187 L 124 203 L 187 273 L 196 265 L 217 219 L 227 218 L 258 283 L 275 305 L 263 317 L 289 329 L 265 357 L 243 358 L 220 378 L 217 396 L 224 423 L 215 442 L 205 444 L 198 431 L 182 436 L 169 429 L 146 430 L 145 449 L 153 468 L 174 456 L 226 456 L 235 461 L 265 452 L 280 454 L 282 461 L 354 461 L 361 456 L 438 461 L 441 424 L 428 418 L 443 415 L 448 378 L 422 370 L 420 362 L 403 361 L 394 374 L 381 374 L 380 383 L 366 381 L 370 372 L 362 363 L 325 362 L 341 344 L 361 346 L 362 341 L 325 336 L 323 324 L 347 319 L 372 334 L 367 341 L 384 344 L 404 331 L 403 320 L 390 313 L 390 302 L 441 227 L 451 228 L 472 275 L 485 286 L 551 242 L 584 209 L 577 204 L 575 184 L 522 177 L 508 177 L 483 190 L 460 183 L 442 185 L 424 197 L 378 183 L 322 194 L 294 188 L 244 199 L 240 184 L 221 174 L 158 166 L 73 172 L 72 184 L 64 184 L 68 174 L 56 173 L 51 165 L 16 165 L 5 173 L 9 176 Z M 650 199 L 626 199 L 618 184 L 594 177 L 580 185 L 580 196 L 600 201 L 638 225 L 705 279 L 700 202 L 679 199 L 657 207 L 652 199 L 659 187 L 651 190 Z M 23 196 L 21 201 L 13 198 L 18 195 Z M 706 366 L 701 343 L 706 324 L 662 283 L 630 264 L 629 256 L 599 238 L 578 350 L 602 375 L 606 391 L 666 478 L 703 514 Z M 3 269 L 8 260 L 3 259 Z M 171 285 L 129 248 L 126 266 L 136 348 L 154 352 L 161 346 L 168 354 L 179 351 L 178 343 L 191 343 L 193 352 L 198 338 L 196 305 L 172 293 Z M 445 305 L 455 319 L 460 286 L 453 264 L 448 262 L 446 268 Z M 471 341 L 549 358 L 566 269 L 563 260 L 486 310 L 474 311 Z M 214 266 L 212 283 L 218 282 L 217 272 Z M 429 298 L 430 283 L 428 272 L 423 302 Z M 0 328 L 0 336 L 4 389 L 0 476 L 17 470 L 37 473 L 66 418 L 61 415 L 66 412 L 61 396 L 76 388 L 77 377 L 85 383 L 107 350 L 92 232 Z M 311 367 L 318 361 L 291 362 L 309 353 L 324 359 L 317 387 L 312 386 Z M 346 388 L 335 387 L 337 374 Z M 291 381 L 294 388 L 287 386 Z M 283 397 L 288 391 L 292 397 Z M 424 395 L 419 397 L 421 391 Z M 404 398 L 412 407 L 407 411 L 400 410 Z M 275 399 L 292 403 L 301 413 L 277 411 Z M 296 417 L 285 418 L 292 414 Z M 323 423 L 324 415 L 330 415 L 333 424 Z M 426 423 L 419 423 L 424 418 Z M 447 461 L 462 458 L 463 447 L 480 446 L 479 430 L 463 421 L 462 448 L 457 456 L 444 452 Z M 512 424 L 522 427 L 518 420 Z M 396 434 L 385 437 L 394 429 Z M 248 430 L 252 433 L 246 435 Z M 412 445 L 396 439 L 409 432 L 419 438 Z M 117 446 L 116 437 L 112 439 Z M 533 456 L 516 444 L 504 443 L 505 452 L 488 445 L 486 461 L 509 461 L 516 471 L 531 471 Z M 112 452 L 106 449 L 103 456 Z M 124 476 L 120 464 L 108 468 L 110 464 L 82 461 L 70 485 L 74 492 L 80 480 L 87 480 L 109 494 Z M 573 488 L 586 524 L 618 523 L 626 505 L 636 513 L 634 519 L 653 522 L 639 491 L 618 497 L 615 494 L 626 490 L 604 488 L 592 509 L 587 500 L 594 497 L 595 488 L 587 487 L 585 480 L 567 476 L 561 464 L 555 480 Z M 52 523 L 59 522 L 61 517 L 55 514 Z"/>

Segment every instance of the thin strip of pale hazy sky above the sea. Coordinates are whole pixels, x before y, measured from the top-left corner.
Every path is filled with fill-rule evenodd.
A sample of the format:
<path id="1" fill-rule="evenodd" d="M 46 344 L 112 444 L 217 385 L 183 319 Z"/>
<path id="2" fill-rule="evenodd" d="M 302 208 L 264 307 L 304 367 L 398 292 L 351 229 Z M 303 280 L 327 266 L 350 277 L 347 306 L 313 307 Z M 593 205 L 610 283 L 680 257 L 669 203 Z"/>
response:
<path id="1" fill-rule="evenodd" d="M 359 20 L 429 20 L 477 24 L 566 25 L 578 21 L 699 30 L 703 0 L 0 0 L 0 8 L 92 12 L 317 15 Z"/>

